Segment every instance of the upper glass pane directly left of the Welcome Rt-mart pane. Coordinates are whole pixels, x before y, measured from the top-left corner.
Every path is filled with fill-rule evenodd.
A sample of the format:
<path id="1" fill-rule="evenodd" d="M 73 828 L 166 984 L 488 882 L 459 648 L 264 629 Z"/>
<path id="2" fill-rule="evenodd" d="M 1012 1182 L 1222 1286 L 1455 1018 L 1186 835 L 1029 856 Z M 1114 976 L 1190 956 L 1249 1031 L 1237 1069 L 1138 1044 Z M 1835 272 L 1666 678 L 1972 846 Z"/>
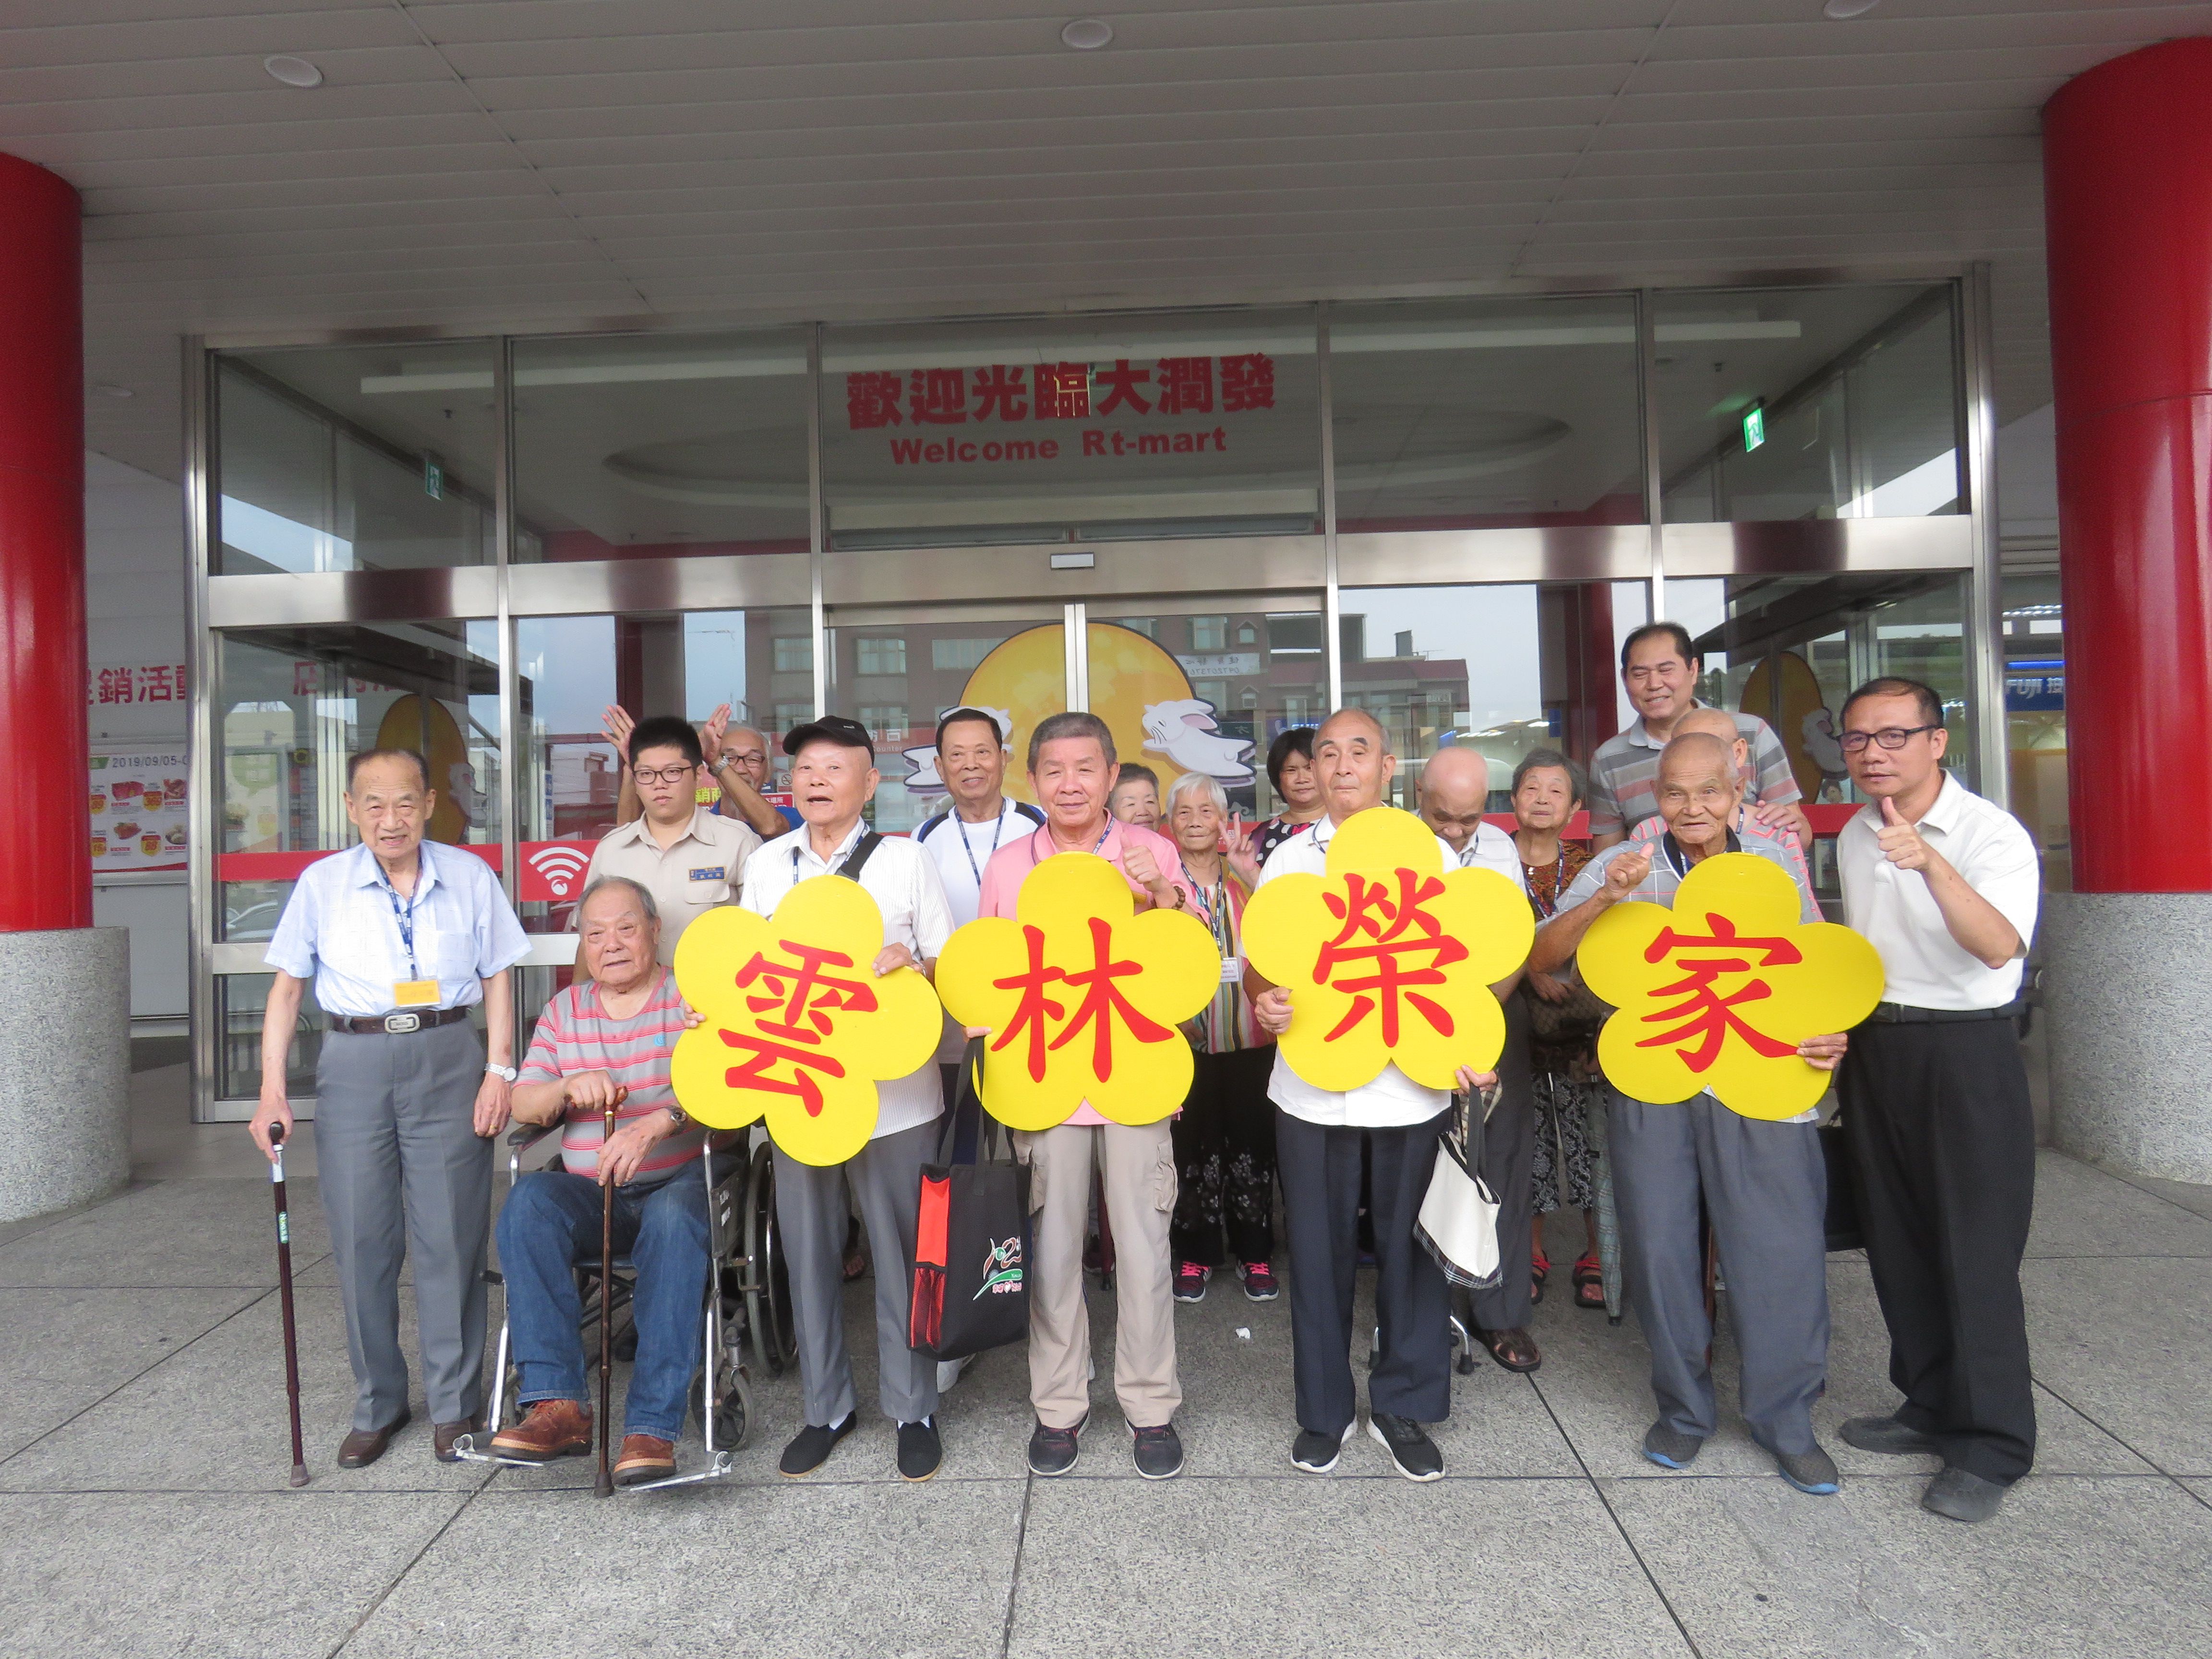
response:
<path id="1" fill-rule="evenodd" d="M 515 341 L 515 560 L 807 551 L 799 330 Z"/>

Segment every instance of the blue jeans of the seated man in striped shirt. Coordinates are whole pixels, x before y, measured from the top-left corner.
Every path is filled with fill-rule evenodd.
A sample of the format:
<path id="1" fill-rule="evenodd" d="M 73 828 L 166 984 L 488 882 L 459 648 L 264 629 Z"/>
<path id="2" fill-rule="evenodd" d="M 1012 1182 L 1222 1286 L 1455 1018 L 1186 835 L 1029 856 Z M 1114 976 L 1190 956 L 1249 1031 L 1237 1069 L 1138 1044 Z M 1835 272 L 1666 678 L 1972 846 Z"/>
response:
<path id="1" fill-rule="evenodd" d="M 500 1272 L 518 1398 L 591 1405 L 584 1380 L 584 1305 L 575 1263 L 599 1254 L 599 1183 L 588 1175 L 524 1175 L 500 1210 Z M 686 1164 L 657 1186 L 615 1188 L 615 1254 L 637 1265 L 630 1318 L 637 1365 L 624 1400 L 624 1433 L 677 1440 L 690 1380 L 699 1374 L 706 1316 L 706 1181 Z"/>

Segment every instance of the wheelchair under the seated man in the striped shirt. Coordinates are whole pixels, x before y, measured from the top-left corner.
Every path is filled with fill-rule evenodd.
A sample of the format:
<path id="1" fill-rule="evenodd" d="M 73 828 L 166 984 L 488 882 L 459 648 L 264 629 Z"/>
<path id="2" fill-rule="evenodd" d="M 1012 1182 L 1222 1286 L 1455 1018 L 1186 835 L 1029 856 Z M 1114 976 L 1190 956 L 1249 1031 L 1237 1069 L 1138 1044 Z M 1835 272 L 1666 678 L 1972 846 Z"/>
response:
<path id="1" fill-rule="evenodd" d="M 562 1124 L 520 1126 L 507 1137 L 507 1186 L 509 1192 L 524 1177 L 524 1159 L 553 1144 L 555 1157 L 540 1168 L 555 1168 L 560 1157 Z M 748 1146 L 748 1141 L 752 1141 Z M 677 1177 L 690 1179 L 690 1177 Z M 752 1374 L 745 1367 L 745 1345 L 768 1376 L 781 1376 L 799 1356 L 790 1270 L 783 1259 L 783 1234 L 776 1225 L 776 1166 L 768 1150 L 765 1133 L 741 1137 L 737 1146 L 699 1159 L 699 1179 L 706 1181 L 708 1214 L 708 1287 L 706 1321 L 699 1356 L 699 1374 L 692 1378 L 690 1411 L 706 1440 L 706 1462 L 695 1473 L 666 1475 L 661 1480 L 619 1486 L 617 1491 L 644 1493 L 661 1486 L 692 1486 L 708 1480 L 723 1480 L 734 1467 L 734 1453 L 752 1433 Z M 613 1354 L 617 1360 L 637 1358 L 637 1327 L 628 1323 L 635 1265 L 617 1254 L 606 1267 L 597 1252 L 575 1263 L 577 1296 L 584 1303 L 582 1329 L 591 1338 L 602 1318 L 615 1321 Z M 491 1270 L 489 1285 L 504 1292 L 504 1279 Z M 595 1352 L 593 1340 L 584 1352 Z M 453 1451 L 469 1462 L 509 1464 L 515 1469 L 540 1469 L 533 1458 L 515 1458 L 491 1449 L 491 1436 L 509 1422 L 520 1420 L 520 1371 L 513 1363 L 513 1332 L 502 1312 L 500 1345 L 491 1371 L 491 1407 L 484 1413 L 480 1436 L 465 1433 L 453 1442 Z M 478 1449 L 478 1438 L 484 1442 Z"/>

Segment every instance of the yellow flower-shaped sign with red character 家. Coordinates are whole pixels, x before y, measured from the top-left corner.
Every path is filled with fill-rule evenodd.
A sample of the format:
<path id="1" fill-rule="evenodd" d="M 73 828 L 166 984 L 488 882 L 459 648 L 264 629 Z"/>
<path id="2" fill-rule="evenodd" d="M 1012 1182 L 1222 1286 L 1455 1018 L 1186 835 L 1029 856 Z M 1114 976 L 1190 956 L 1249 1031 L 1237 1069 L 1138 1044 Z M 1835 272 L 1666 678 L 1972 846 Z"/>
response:
<path id="1" fill-rule="evenodd" d="M 1615 1004 L 1597 1033 L 1606 1082 L 1632 1099 L 1710 1088 L 1743 1117 L 1796 1117 L 1832 1073 L 1805 1037 L 1849 1031 L 1882 1000 L 1882 958 L 1836 922 L 1803 922 L 1778 865 L 1728 852 L 1697 865 L 1674 909 L 1630 900 L 1582 936 L 1584 982 Z"/>

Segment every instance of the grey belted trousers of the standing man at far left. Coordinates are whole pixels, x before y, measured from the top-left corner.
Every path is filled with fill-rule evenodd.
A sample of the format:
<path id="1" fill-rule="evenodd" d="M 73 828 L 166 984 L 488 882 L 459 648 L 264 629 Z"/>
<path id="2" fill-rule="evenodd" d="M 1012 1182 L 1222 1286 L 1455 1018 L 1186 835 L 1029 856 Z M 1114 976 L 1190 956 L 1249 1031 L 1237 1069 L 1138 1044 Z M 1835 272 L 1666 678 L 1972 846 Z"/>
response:
<path id="1" fill-rule="evenodd" d="M 405 1037 L 332 1031 L 314 1066 L 314 1152 L 354 1360 L 354 1427 L 407 1409 L 400 1263 L 414 1256 L 431 1422 L 484 1398 L 491 1141 L 476 1133 L 484 1044 L 456 1022 Z"/>

